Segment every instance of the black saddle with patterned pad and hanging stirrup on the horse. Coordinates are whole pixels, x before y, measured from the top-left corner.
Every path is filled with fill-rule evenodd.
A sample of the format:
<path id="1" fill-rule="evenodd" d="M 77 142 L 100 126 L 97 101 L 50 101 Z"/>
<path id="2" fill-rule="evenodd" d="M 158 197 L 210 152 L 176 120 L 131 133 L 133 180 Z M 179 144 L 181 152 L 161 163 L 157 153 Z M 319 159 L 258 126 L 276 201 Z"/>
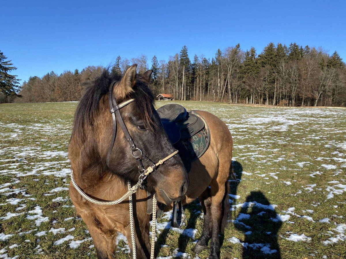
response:
<path id="1" fill-rule="evenodd" d="M 179 150 L 178 154 L 186 171 L 189 172 L 191 163 L 199 159 L 208 149 L 210 131 L 207 123 L 197 112 L 188 112 L 179 104 L 167 104 L 156 111 L 170 141 Z M 171 226 L 180 228 L 184 220 L 185 213 L 181 201 L 173 202 Z"/>

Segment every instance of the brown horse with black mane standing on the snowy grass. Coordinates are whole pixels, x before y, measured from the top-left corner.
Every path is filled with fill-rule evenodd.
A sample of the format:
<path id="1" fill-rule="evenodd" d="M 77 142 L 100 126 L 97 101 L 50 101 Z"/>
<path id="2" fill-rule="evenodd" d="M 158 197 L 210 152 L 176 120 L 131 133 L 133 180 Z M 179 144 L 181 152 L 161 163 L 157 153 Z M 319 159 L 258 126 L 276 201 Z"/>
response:
<path id="1" fill-rule="evenodd" d="M 115 257 L 119 232 L 127 238 L 131 250 L 136 246 L 138 258 L 149 258 L 151 215 L 147 213 L 148 192 L 167 208 L 172 207 L 173 201 L 190 203 L 198 198 L 204 222 L 201 237 L 193 250 L 201 252 L 211 239 L 209 258 L 219 258 L 218 233 L 224 231 L 230 212 L 228 176 L 232 136 L 225 123 L 215 115 L 198 111 L 209 125 L 211 139 L 206 153 L 192 162 L 187 173 L 180 156 L 174 155 L 175 148 L 154 108 L 155 98 L 148 87 L 152 70 L 140 75 L 136 68 L 136 64 L 130 66 L 122 77 L 105 69 L 100 77 L 88 83 L 75 111 L 69 143 L 69 159 L 76 184 L 88 196 L 100 201 L 119 199 L 128 191 L 126 182 L 134 185 L 142 175 L 138 172 L 138 156 L 133 155 L 136 149 L 127 143 L 135 142 L 137 150 L 143 151 L 150 161 L 158 161 L 173 153 L 147 176 L 143 190 L 139 188 L 132 195 L 135 244 L 131 242 L 128 200 L 111 206 L 93 204 L 76 191 L 71 182 L 72 203 L 89 230 L 97 258 Z M 129 103 L 118 110 L 120 117 L 115 123 L 123 121 L 130 140 L 120 127 L 114 129 L 114 111 L 110 113 L 109 95 L 116 103 Z"/>

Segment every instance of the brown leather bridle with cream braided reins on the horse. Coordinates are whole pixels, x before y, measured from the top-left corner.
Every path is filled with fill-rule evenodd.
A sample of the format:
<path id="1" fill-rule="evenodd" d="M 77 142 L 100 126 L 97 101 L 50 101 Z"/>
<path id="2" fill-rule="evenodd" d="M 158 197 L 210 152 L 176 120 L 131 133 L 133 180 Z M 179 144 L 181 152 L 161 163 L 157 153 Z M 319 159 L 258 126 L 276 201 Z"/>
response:
<path id="1" fill-rule="evenodd" d="M 172 154 L 166 156 L 164 159 L 159 160 L 155 164 L 151 159 L 149 159 L 146 155 L 143 154 L 142 150 L 140 150 L 138 147 L 136 147 L 136 144 L 133 141 L 133 139 L 131 138 L 131 135 L 128 132 L 127 127 L 126 127 L 124 120 L 122 119 L 122 117 L 120 115 L 120 111 L 119 111 L 119 109 L 121 109 L 122 107 L 125 107 L 126 105 L 134 102 L 135 99 L 129 99 L 129 100 L 122 102 L 118 105 L 117 100 L 116 100 L 115 96 L 113 95 L 113 87 L 114 87 L 115 83 L 116 82 L 111 84 L 109 87 L 109 106 L 110 106 L 110 113 L 112 115 L 113 129 L 112 129 L 111 143 L 109 145 L 108 155 L 107 155 L 107 166 L 110 168 L 109 162 L 110 162 L 110 156 L 111 156 L 111 153 L 113 150 L 113 146 L 115 144 L 115 138 L 116 138 L 116 134 L 117 134 L 117 119 L 118 119 L 120 127 L 121 127 L 122 131 L 124 132 L 126 140 L 129 143 L 130 148 L 132 150 L 132 156 L 135 158 L 137 165 L 138 165 L 138 172 L 139 172 L 138 182 L 134 186 L 131 187 L 131 183 L 130 183 L 130 181 L 128 181 L 127 182 L 128 191 L 121 198 L 119 198 L 118 200 L 115 200 L 115 201 L 98 201 L 98 200 L 92 199 L 90 196 L 85 194 L 79 188 L 78 184 L 75 182 L 74 177 L 73 177 L 73 170 L 71 170 L 71 182 L 72 182 L 72 185 L 74 186 L 74 188 L 76 189 L 76 191 L 78 191 L 78 193 L 80 195 L 82 195 L 82 197 L 84 199 L 86 199 L 89 202 L 92 202 L 94 204 L 116 205 L 116 204 L 119 204 L 120 202 L 124 201 L 127 198 L 129 199 L 132 253 L 133 253 L 133 258 L 136 259 L 136 241 L 135 241 L 132 194 L 134 194 L 138 190 L 138 187 L 141 189 L 144 189 L 145 185 L 143 185 L 143 182 L 148 177 L 148 175 L 150 173 L 152 173 L 154 170 L 156 170 L 159 165 L 163 164 L 165 161 L 169 160 L 171 157 L 176 155 L 178 153 L 178 151 L 177 150 L 174 151 Z M 136 155 L 135 153 L 138 153 L 138 152 L 139 152 L 139 154 Z M 145 163 L 147 163 L 149 165 L 149 167 L 147 169 L 144 169 L 142 161 L 144 161 Z M 151 259 L 154 259 L 154 250 L 155 250 L 156 204 L 157 204 L 156 197 L 155 197 L 155 195 L 153 195 L 153 224 L 152 224 L 152 241 L 151 241 L 151 257 L 150 257 Z"/>

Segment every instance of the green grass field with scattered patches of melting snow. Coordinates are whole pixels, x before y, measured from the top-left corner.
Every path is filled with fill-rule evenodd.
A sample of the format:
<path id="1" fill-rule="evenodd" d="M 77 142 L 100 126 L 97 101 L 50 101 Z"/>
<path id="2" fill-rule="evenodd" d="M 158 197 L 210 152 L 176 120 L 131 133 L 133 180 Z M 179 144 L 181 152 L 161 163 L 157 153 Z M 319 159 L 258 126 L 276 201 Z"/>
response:
<path id="1" fill-rule="evenodd" d="M 217 115 L 234 137 L 221 258 L 346 258 L 346 109 L 183 104 Z M 75 107 L 0 105 L 0 258 L 96 258 L 68 196 Z M 201 211 L 185 207 L 184 231 L 167 228 L 169 213 L 158 220 L 157 257 L 208 257 L 191 250 Z M 119 236 L 118 257 L 128 252 Z"/>

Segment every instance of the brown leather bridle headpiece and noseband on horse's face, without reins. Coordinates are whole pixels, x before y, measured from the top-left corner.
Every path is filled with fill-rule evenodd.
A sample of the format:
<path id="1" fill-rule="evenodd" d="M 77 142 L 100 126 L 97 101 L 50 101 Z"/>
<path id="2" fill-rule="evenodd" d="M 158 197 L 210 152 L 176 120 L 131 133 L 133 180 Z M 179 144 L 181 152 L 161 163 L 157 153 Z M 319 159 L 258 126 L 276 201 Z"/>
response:
<path id="1" fill-rule="evenodd" d="M 144 189 L 144 185 L 142 185 L 142 183 L 148 177 L 148 175 L 151 172 L 153 172 L 154 170 L 156 170 L 158 165 L 163 164 L 163 162 L 165 160 L 170 159 L 172 156 L 177 154 L 178 151 L 176 150 L 171 155 L 167 156 L 164 161 L 160 160 L 156 164 L 151 159 L 149 159 L 149 157 L 147 157 L 145 154 L 143 154 L 143 151 L 140 150 L 140 148 L 138 148 L 136 146 L 134 140 L 132 139 L 132 137 L 131 137 L 131 135 L 130 135 L 129 131 L 127 130 L 127 127 L 124 123 L 124 120 L 122 119 L 122 117 L 120 115 L 120 111 L 119 111 L 122 107 L 125 107 L 126 105 L 134 102 L 135 99 L 129 99 L 129 100 L 122 102 L 121 104 L 118 105 L 117 100 L 113 94 L 113 88 L 114 88 L 115 84 L 116 84 L 116 82 L 112 83 L 109 86 L 109 94 L 108 94 L 110 113 L 112 115 L 112 120 L 113 120 L 113 129 L 112 129 L 111 143 L 109 145 L 108 155 L 107 155 L 107 166 L 110 168 L 109 161 L 110 161 L 110 156 L 112 154 L 113 146 L 115 144 L 115 138 L 117 135 L 117 119 L 118 119 L 118 122 L 119 122 L 121 129 L 122 129 L 122 132 L 124 132 L 126 140 L 129 143 L 130 148 L 132 150 L 132 156 L 135 158 L 135 160 L 137 162 L 137 167 L 138 167 L 138 172 L 139 172 L 139 178 L 138 178 L 139 187 L 141 189 Z M 144 169 L 143 161 L 149 165 L 149 167 L 147 169 Z"/>

